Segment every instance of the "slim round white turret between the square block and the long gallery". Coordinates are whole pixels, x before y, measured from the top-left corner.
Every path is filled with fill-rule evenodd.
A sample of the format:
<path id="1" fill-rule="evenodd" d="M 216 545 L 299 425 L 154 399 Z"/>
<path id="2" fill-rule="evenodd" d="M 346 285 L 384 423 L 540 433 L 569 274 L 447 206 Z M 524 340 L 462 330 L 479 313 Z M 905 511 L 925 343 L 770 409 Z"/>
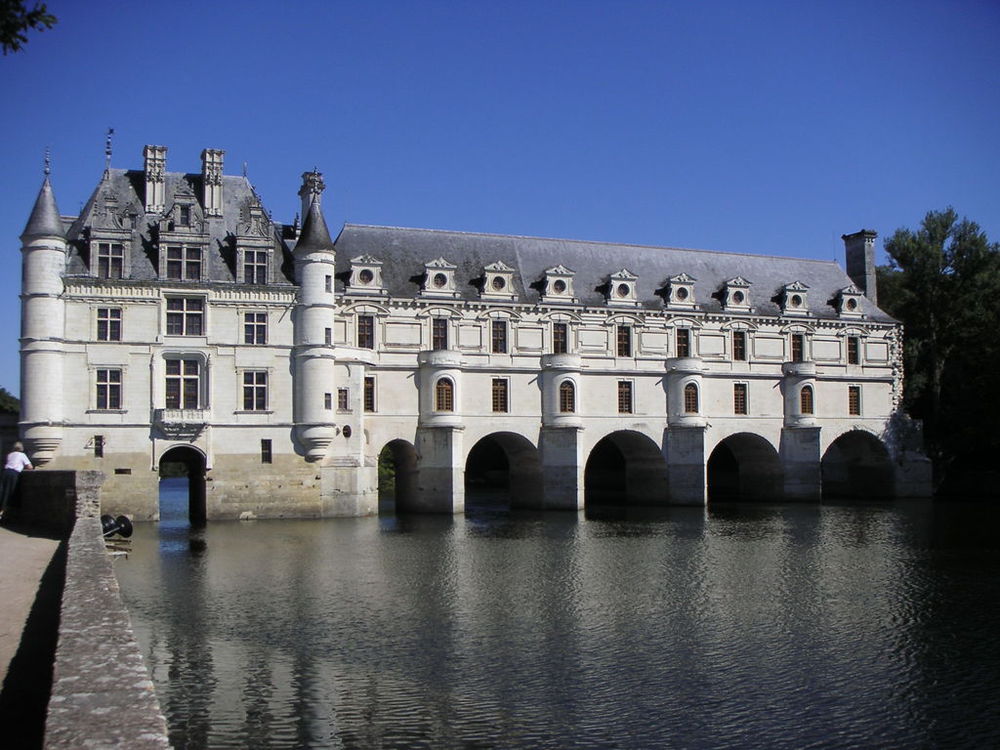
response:
<path id="1" fill-rule="evenodd" d="M 323 176 L 316 171 L 302 175 L 305 222 L 295 245 L 295 281 L 299 300 L 295 307 L 295 438 L 310 461 L 326 455 L 336 434 L 333 422 L 334 263 L 330 230 L 323 218 L 320 195 Z"/>

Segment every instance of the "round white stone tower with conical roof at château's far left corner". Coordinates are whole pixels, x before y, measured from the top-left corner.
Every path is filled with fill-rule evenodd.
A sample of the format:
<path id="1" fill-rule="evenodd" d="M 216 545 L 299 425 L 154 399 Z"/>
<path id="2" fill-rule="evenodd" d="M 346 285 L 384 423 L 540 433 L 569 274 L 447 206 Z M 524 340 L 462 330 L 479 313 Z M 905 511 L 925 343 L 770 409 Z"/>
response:
<path id="1" fill-rule="evenodd" d="M 38 192 L 21 234 L 21 436 L 36 465 L 63 439 L 66 233 L 49 183 Z"/>

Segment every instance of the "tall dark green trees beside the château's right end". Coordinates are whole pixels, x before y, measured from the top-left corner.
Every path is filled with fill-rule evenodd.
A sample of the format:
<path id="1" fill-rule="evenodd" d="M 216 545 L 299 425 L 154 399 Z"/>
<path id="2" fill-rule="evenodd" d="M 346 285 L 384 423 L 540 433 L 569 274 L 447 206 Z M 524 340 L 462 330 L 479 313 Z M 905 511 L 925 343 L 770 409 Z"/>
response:
<path id="1" fill-rule="evenodd" d="M 885 243 L 879 302 L 905 331 L 905 407 L 939 478 L 1000 450 L 1000 245 L 954 209 Z"/>

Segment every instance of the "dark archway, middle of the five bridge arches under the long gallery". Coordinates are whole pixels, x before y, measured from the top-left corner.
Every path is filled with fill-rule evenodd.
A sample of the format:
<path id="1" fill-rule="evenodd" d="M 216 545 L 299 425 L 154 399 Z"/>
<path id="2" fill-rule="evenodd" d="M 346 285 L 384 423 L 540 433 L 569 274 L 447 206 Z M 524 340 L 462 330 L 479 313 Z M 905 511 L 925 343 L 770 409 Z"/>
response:
<path id="1" fill-rule="evenodd" d="M 606 435 L 584 469 L 587 505 L 661 505 L 667 500 L 667 464 L 659 446 L 630 430 Z"/>

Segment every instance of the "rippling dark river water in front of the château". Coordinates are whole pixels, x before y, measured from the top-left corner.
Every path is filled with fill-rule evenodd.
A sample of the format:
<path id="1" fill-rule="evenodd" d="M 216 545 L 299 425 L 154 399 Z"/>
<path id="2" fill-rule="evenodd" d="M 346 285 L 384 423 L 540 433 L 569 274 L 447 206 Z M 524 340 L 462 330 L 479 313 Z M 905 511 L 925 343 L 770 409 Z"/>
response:
<path id="1" fill-rule="evenodd" d="M 1000 513 L 137 525 L 175 747 L 1000 746 Z"/>

